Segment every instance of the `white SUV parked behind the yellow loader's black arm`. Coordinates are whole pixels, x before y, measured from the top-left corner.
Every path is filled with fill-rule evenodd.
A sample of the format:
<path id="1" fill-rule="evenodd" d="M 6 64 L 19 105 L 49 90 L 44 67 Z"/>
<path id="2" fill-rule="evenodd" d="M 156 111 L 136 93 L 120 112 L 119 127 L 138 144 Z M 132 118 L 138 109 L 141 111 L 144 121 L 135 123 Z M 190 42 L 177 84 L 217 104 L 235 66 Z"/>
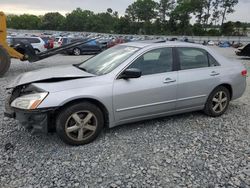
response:
<path id="1" fill-rule="evenodd" d="M 7 39 L 10 46 L 16 46 L 22 40 L 28 41 L 32 45 L 36 53 L 46 51 L 45 42 L 40 37 L 8 37 Z"/>

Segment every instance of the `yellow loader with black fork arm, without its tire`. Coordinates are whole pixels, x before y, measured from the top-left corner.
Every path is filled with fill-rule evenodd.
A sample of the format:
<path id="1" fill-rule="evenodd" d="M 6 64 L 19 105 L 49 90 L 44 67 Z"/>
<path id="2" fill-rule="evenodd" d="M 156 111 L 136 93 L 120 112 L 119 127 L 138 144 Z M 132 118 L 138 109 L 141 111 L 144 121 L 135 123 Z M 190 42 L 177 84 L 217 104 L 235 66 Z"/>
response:
<path id="1" fill-rule="evenodd" d="M 14 48 L 10 47 L 6 41 L 7 25 L 6 16 L 0 11 L 0 77 L 2 77 L 8 70 L 11 64 L 11 58 L 20 59 L 22 61 L 36 62 L 41 59 L 59 54 L 65 50 L 74 48 L 76 46 L 91 42 L 95 39 L 87 41 L 78 40 L 71 44 L 67 44 L 58 48 L 50 49 L 45 52 L 36 54 L 33 47 L 28 41 L 22 41 Z"/>

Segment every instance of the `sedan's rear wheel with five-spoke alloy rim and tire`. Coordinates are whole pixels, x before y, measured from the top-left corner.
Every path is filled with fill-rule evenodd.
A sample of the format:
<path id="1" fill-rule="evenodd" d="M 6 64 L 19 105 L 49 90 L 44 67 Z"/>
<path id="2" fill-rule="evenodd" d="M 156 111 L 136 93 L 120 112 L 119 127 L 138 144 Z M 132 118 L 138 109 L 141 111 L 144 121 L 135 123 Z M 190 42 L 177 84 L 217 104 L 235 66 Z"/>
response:
<path id="1" fill-rule="evenodd" d="M 230 92 L 226 87 L 218 86 L 209 95 L 204 112 L 205 114 L 218 117 L 224 114 L 230 103 Z"/>

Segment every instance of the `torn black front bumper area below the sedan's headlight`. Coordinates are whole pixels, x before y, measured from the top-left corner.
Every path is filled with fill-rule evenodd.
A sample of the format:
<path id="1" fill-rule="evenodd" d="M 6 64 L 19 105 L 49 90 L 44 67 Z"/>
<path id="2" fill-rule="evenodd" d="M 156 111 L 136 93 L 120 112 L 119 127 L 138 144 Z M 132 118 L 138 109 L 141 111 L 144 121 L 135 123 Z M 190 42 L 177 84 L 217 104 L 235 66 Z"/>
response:
<path id="1" fill-rule="evenodd" d="M 5 104 L 4 116 L 18 120 L 32 134 L 52 132 L 55 109 L 20 110 L 10 107 L 8 100 Z"/>

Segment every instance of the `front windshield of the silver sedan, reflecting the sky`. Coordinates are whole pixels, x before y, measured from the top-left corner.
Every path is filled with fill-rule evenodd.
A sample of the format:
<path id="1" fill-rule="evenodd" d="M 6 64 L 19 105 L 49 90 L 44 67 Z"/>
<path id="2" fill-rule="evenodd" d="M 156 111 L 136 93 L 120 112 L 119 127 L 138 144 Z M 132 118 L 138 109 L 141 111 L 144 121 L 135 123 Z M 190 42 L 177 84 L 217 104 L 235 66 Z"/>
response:
<path id="1" fill-rule="evenodd" d="M 137 50 L 139 50 L 139 48 L 115 46 L 85 61 L 79 65 L 79 68 L 95 75 L 104 75 L 122 64 Z"/>

